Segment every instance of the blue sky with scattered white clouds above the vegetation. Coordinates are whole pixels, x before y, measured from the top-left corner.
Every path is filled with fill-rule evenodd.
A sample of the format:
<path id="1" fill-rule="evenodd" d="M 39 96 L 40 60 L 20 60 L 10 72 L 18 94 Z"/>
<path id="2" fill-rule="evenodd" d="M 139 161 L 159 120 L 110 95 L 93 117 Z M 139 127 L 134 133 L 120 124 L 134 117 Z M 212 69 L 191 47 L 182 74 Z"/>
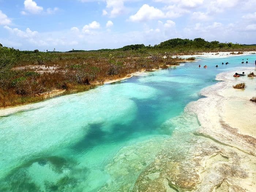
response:
<path id="1" fill-rule="evenodd" d="M 0 0 L 0 43 L 56 51 L 171 38 L 256 44 L 256 0 Z"/>

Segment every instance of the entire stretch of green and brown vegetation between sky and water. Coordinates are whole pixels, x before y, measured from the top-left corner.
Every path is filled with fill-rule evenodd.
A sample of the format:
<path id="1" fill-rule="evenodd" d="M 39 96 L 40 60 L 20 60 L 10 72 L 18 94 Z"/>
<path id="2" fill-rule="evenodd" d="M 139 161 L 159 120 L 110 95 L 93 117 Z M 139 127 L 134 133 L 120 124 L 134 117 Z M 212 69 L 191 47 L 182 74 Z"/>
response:
<path id="1" fill-rule="evenodd" d="M 256 46 L 208 42 L 201 38 L 170 39 L 154 46 L 138 44 L 69 52 L 19 51 L 0 44 L 0 107 L 41 101 L 45 99 L 44 93 L 53 90 L 84 91 L 106 80 L 185 61 L 172 58 L 173 55 L 249 50 L 256 50 Z"/>

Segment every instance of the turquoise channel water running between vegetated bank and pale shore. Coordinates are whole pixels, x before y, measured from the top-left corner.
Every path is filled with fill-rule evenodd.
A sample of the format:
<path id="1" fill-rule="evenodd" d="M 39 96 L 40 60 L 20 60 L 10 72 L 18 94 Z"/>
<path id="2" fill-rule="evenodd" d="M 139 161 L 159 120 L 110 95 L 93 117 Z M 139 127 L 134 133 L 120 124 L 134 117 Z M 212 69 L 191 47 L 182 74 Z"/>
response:
<path id="1" fill-rule="evenodd" d="M 199 126 L 196 119 L 182 124 L 199 91 L 218 73 L 255 66 L 255 59 L 203 58 L 0 117 L 0 191 L 131 190 L 177 127 Z"/>

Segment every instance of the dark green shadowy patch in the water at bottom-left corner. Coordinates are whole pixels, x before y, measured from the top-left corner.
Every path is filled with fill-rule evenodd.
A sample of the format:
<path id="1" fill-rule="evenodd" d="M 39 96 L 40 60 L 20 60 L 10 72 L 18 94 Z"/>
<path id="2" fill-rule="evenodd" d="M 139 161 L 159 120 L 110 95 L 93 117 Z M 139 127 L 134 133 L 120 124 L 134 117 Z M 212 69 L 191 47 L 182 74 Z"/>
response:
<path id="1" fill-rule="evenodd" d="M 30 174 L 30 169 L 33 169 L 33 166 L 41 166 L 44 167 L 43 169 L 48 170 L 48 172 L 54 172 L 57 175 L 56 181 L 52 181 L 51 178 L 44 176 L 41 185 L 38 184 L 38 182 L 33 180 L 33 174 Z M 76 162 L 74 160 L 57 156 L 31 159 L 13 169 L 7 176 L 0 180 L 0 191 L 72 191 L 79 180 L 85 180 L 90 173 L 88 168 L 79 170 L 75 169 L 75 166 Z M 69 171 L 67 172 L 66 170 Z M 78 177 L 79 173 L 81 173 L 80 177 Z"/>

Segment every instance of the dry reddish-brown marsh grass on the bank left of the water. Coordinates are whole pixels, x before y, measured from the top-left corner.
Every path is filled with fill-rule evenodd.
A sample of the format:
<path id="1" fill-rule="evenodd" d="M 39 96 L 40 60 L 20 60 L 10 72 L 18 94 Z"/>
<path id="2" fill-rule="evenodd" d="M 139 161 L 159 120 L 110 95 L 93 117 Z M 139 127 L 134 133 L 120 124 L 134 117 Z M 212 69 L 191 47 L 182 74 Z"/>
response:
<path id="1" fill-rule="evenodd" d="M 124 78 L 133 72 L 179 65 L 177 59 L 163 59 L 159 53 L 150 57 L 130 52 L 42 53 L 42 61 L 34 56 L 26 55 L 11 68 L 14 76 L 0 90 L 0 107 L 42 101 L 42 95 L 53 90 L 66 90 L 64 94 L 86 91 L 95 84 Z M 26 76 L 27 72 L 38 75 Z"/>

